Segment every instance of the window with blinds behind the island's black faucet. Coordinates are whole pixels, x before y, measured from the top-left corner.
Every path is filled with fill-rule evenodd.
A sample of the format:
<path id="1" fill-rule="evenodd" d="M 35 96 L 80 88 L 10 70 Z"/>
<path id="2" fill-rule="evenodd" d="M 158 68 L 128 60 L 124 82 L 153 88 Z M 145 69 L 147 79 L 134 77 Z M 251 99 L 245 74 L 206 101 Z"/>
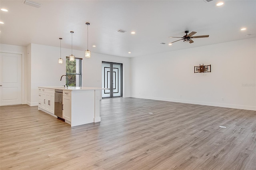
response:
<path id="1" fill-rule="evenodd" d="M 69 61 L 66 57 L 66 75 L 68 76 L 68 86 L 82 86 L 82 59 L 75 58 Z"/>

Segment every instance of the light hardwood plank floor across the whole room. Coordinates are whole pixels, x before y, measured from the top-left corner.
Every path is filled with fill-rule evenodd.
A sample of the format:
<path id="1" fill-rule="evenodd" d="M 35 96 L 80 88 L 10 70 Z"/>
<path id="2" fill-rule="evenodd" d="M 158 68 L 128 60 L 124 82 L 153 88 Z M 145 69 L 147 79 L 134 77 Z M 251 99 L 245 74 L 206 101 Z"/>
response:
<path id="1" fill-rule="evenodd" d="M 100 116 L 70 127 L 37 107 L 0 107 L 0 169 L 256 170 L 256 111 L 115 98 Z"/>

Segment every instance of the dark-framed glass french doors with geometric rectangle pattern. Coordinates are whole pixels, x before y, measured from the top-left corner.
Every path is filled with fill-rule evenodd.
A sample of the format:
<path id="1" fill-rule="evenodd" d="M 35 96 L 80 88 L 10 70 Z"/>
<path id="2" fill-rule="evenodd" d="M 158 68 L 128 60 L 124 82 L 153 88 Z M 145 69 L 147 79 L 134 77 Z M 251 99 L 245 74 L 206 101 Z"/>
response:
<path id="1" fill-rule="evenodd" d="M 122 63 L 102 61 L 102 98 L 122 97 Z"/>

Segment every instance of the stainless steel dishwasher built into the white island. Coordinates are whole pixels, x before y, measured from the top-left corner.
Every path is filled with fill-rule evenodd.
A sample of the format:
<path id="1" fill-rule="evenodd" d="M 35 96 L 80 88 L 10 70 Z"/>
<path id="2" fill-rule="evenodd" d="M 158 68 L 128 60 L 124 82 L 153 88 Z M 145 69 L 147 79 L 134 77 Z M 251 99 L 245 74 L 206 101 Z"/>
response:
<path id="1" fill-rule="evenodd" d="M 54 93 L 54 115 L 63 119 L 63 115 L 62 115 L 62 96 L 63 96 L 63 90 L 55 89 L 55 93 Z"/>

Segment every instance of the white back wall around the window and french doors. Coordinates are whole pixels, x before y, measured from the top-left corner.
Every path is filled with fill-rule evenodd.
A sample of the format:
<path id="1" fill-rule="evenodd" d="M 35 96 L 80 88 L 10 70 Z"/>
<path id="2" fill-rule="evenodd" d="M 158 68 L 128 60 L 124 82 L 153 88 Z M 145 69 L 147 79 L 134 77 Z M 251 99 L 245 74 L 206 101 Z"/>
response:
<path id="1" fill-rule="evenodd" d="M 38 86 L 65 85 L 66 56 L 71 55 L 70 49 L 62 48 L 63 64 L 58 63 L 60 47 L 31 44 L 31 106 L 38 105 Z M 84 57 L 84 51 L 73 50 L 73 55 L 83 58 L 82 86 L 101 87 L 102 61 L 123 63 L 124 65 L 124 97 L 130 97 L 130 59 L 112 55 L 92 53 L 90 59 Z M 99 82 L 97 80 L 100 80 Z"/>

